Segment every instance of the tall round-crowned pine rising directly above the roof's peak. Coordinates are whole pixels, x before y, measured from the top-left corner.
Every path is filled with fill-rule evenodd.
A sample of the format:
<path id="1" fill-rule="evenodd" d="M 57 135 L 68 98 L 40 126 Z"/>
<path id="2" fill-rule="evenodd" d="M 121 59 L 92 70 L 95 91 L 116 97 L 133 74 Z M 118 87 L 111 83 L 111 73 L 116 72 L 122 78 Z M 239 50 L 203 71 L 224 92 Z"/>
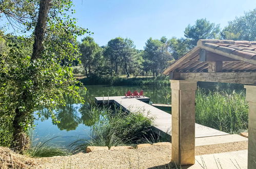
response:
<path id="1" fill-rule="evenodd" d="M 199 39 L 219 38 L 220 25 L 210 23 L 206 19 L 197 19 L 195 25 L 188 25 L 185 28 L 184 36 L 189 38 L 192 47 L 196 46 Z"/>

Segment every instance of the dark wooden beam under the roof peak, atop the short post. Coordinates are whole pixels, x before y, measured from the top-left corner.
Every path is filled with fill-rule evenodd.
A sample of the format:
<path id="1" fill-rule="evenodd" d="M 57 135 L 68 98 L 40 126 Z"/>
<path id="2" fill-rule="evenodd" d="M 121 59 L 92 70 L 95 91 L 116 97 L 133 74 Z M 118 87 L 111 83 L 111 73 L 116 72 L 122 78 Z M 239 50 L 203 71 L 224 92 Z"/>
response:
<path id="1" fill-rule="evenodd" d="M 239 61 L 204 49 L 200 49 L 199 61 Z"/>

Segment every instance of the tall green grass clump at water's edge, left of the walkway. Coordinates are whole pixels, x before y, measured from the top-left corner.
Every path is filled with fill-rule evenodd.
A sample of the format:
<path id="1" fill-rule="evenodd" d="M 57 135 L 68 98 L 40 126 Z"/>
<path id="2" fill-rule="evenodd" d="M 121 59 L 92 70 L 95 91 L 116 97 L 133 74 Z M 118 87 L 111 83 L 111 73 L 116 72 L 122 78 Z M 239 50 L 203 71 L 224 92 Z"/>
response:
<path id="1" fill-rule="evenodd" d="M 92 107 L 95 105 L 92 105 Z M 152 133 L 152 118 L 141 113 L 123 112 L 121 109 L 98 107 L 101 117 L 91 126 L 91 139 L 80 139 L 70 144 L 73 153 L 84 152 L 87 146 L 133 145 L 143 142 Z"/>

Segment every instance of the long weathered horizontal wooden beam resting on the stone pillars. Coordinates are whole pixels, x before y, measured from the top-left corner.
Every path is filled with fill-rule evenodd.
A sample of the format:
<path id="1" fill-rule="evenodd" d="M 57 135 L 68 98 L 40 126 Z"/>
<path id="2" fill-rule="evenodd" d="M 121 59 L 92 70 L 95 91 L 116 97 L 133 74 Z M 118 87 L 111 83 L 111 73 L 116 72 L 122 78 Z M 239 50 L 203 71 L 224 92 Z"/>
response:
<path id="1" fill-rule="evenodd" d="M 256 85 L 256 72 L 172 72 L 171 80 L 209 81 Z"/>

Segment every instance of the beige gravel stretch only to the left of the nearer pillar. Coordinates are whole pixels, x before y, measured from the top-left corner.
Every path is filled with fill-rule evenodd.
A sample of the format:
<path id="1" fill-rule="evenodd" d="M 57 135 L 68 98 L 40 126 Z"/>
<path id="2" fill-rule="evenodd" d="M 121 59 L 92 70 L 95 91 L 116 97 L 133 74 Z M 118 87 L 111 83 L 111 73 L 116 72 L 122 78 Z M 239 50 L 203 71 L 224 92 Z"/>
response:
<path id="1" fill-rule="evenodd" d="M 72 156 L 37 159 L 36 168 L 149 168 L 169 163 L 171 148 L 152 145 L 141 149 L 103 150 Z"/>

